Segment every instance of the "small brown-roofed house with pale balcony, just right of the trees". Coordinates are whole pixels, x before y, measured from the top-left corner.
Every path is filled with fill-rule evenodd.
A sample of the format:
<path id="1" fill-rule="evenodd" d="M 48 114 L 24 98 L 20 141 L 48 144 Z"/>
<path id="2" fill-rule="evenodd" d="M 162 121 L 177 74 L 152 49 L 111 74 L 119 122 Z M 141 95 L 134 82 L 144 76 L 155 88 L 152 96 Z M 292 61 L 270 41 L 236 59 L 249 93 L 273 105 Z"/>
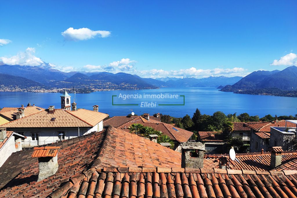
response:
<path id="1" fill-rule="evenodd" d="M 232 122 L 233 130 L 232 136 L 240 135 L 244 144 L 250 144 L 251 129 L 247 126 L 248 124 L 255 124 L 260 122 Z"/>

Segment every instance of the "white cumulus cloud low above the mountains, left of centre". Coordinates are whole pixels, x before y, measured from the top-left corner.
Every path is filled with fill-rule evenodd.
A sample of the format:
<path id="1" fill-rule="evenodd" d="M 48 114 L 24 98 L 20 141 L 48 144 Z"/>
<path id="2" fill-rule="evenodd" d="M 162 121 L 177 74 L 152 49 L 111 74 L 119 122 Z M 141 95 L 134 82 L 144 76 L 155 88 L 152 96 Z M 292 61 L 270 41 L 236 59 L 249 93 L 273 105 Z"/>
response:
<path id="1" fill-rule="evenodd" d="M 85 65 L 83 66 L 89 72 L 132 72 L 135 71 L 134 65 L 136 61 L 129 58 L 122 58 L 120 61 L 113 61 L 108 65 Z"/>

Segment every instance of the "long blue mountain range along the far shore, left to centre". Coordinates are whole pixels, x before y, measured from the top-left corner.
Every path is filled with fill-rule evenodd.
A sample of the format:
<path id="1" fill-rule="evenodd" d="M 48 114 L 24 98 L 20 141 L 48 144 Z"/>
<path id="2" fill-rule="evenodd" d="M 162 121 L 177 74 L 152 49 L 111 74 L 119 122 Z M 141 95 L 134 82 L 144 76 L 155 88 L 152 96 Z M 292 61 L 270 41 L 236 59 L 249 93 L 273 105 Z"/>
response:
<path id="1" fill-rule="evenodd" d="M 236 83 L 242 77 L 207 77 L 207 78 L 142 78 L 127 73 L 109 72 L 61 72 L 49 66 L 21 66 L 0 63 L 0 74 L 11 79 L 22 77 L 22 80 L 9 81 L 10 87 L 44 89 L 72 88 L 93 91 L 110 89 L 154 89 L 161 87 L 218 87 Z M 27 80 L 25 80 L 27 79 Z M 29 81 L 31 80 L 31 81 Z M 3 81 L 3 80 L 2 80 Z M 7 83 L 0 81 L 0 85 Z M 31 86 L 30 86 L 31 85 Z"/>

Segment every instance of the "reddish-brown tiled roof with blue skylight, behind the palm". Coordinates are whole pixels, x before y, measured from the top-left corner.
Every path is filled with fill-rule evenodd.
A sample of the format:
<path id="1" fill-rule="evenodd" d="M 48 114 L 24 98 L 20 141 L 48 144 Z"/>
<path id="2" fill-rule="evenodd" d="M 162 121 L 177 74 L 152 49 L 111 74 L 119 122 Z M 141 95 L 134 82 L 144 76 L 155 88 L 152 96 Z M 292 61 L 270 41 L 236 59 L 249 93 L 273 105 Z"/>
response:
<path id="1" fill-rule="evenodd" d="M 168 135 L 171 140 L 176 140 L 178 142 L 187 142 L 193 135 L 193 132 L 180 129 L 178 127 L 172 126 L 171 124 L 159 122 L 157 120 L 147 120 L 143 116 L 137 116 L 133 120 L 128 121 L 117 128 L 129 132 L 129 126 L 134 123 L 142 124 L 143 126 L 149 126 L 157 131 L 161 131 L 162 134 Z"/>

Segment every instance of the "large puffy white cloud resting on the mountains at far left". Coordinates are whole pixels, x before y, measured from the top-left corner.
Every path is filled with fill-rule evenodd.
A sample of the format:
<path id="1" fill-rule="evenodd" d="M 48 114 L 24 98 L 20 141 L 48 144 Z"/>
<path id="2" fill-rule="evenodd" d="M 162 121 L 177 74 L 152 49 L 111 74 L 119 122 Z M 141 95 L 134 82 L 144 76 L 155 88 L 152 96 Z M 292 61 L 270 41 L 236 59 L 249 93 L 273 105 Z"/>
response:
<path id="1" fill-rule="evenodd" d="M 25 52 L 19 52 L 17 55 L 10 58 L 2 56 L 0 60 L 7 65 L 28 65 L 41 66 L 44 62 L 41 58 L 34 56 L 35 48 L 28 47 Z"/>

